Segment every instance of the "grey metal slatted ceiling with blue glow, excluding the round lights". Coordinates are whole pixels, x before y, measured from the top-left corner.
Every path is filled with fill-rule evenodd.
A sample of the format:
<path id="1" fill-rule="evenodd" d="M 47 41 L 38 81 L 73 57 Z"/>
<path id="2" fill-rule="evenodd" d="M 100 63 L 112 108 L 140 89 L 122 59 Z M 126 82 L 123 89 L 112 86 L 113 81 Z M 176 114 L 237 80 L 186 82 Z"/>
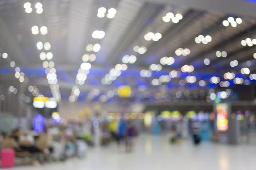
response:
<path id="1" fill-rule="evenodd" d="M 212 76 L 221 81 L 226 72 L 233 72 L 236 77 L 253 83 L 249 75 L 241 74 L 241 68 L 249 68 L 256 72 L 256 59 L 253 54 L 255 46 L 242 46 L 241 41 L 246 38 L 256 38 L 256 14 L 245 7 L 253 8 L 255 4 L 249 2 L 235 2 L 233 8 L 225 10 L 226 4 L 212 5 L 204 0 L 1 0 L 0 1 L 0 82 L 3 87 L 10 85 L 20 88 L 21 93 L 28 93 L 29 85 L 37 86 L 43 95 L 51 96 L 52 92 L 46 79 L 43 61 L 37 49 L 37 42 L 50 42 L 53 53 L 54 68 L 58 78 L 58 85 L 62 99 L 67 100 L 73 86 L 81 91 L 80 101 L 85 101 L 87 95 L 94 88 L 100 94 L 117 89 L 122 85 L 130 85 L 138 96 L 148 96 L 147 93 L 180 90 L 180 86 L 190 90 L 206 90 L 218 87 L 218 84 L 209 82 Z M 232 0 L 229 0 L 232 1 Z M 33 11 L 26 13 L 24 4 L 31 3 Z M 43 12 L 37 14 L 34 6 L 40 2 Z M 194 2 L 194 3 L 193 3 Z M 189 7 L 186 7 L 187 6 Z M 216 3 L 217 4 L 217 3 Z M 240 8 L 239 9 L 239 5 Z M 97 17 L 100 7 L 115 8 L 117 13 L 113 19 Z M 255 11 L 255 10 L 254 10 Z M 162 17 L 166 13 L 180 13 L 183 18 L 178 23 L 164 22 Z M 228 12 L 228 13 L 227 13 Z M 242 23 L 236 27 L 223 26 L 223 20 L 228 17 L 241 18 Z M 31 34 L 31 28 L 46 26 L 46 35 Z M 92 38 L 94 30 L 103 30 L 103 39 Z M 144 35 L 148 32 L 159 32 L 162 38 L 159 41 L 146 41 Z M 212 41 L 208 44 L 197 44 L 195 37 L 210 35 Z M 88 44 L 100 44 L 98 52 L 88 52 Z M 134 46 L 145 46 L 147 51 L 139 54 L 133 50 Z M 191 53 L 187 56 L 177 56 L 178 48 L 188 48 Z M 217 57 L 216 51 L 226 51 L 227 57 Z M 2 57 L 8 53 L 8 58 Z M 91 69 L 83 85 L 76 84 L 76 75 L 80 68 L 84 54 L 95 54 L 96 60 L 91 62 Z M 115 65 L 122 63 L 125 55 L 135 55 L 137 61 L 127 64 L 128 69 L 122 71 L 110 85 L 103 85 L 102 79 Z M 175 62 L 172 65 L 162 65 L 162 70 L 152 71 L 149 78 L 141 77 L 142 69 L 149 69 L 153 63 L 160 64 L 164 56 L 172 56 Z M 204 64 L 204 59 L 210 60 L 210 65 Z M 237 60 L 239 65 L 231 67 L 230 62 Z M 10 67 L 10 62 L 15 67 Z M 184 65 L 193 65 L 195 71 L 181 72 Z M 15 68 L 28 78 L 23 83 L 14 77 Z M 172 78 L 168 83 L 152 85 L 153 79 L 162 75 L 169 75 L 176 70 L 179 77 Z M 187 76 L 195 76 L 195 83 L 180 85 L 180 80 Z M 207 85 L 198 85 L 205 80 Z M 235 86 L 233 80 L 228 80 L 230 87 Z M 250 81 L 250 82 L 249 82 Z M 22 84 L 22 85 L 21 85 Z M 139 94 L 144 86 L 143 94 Z M 21 88 L 22 87 L 22 88 Z M 146 94 L 145 94 L 146 93 Z M 97 98 L 97 100 L 99 97 Z"/>

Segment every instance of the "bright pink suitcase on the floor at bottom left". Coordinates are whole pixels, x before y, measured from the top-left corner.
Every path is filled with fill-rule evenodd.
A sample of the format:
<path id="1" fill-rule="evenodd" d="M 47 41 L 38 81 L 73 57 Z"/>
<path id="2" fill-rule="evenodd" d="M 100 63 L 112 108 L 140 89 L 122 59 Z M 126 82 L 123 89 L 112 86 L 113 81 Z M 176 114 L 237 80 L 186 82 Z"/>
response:
<path id="1" fill-rule="evenodd" d="M 13 167 L 15 162 L 15 151 L 13 149 L 1 150 L 2 167 Z"/>

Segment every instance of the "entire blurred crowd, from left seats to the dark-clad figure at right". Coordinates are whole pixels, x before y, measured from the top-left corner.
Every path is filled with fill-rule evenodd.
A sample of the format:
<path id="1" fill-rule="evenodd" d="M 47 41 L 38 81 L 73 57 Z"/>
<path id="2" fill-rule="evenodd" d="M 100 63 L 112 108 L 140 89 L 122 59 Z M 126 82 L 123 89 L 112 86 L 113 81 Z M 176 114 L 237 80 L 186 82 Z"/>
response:
<path id="1" fill-rule="evenodd" d="M 168 122 L 155 119 L 154 122 L 157 123 L 152 122 L 151 127 L 144 126 L 141 129 L 138 124 L 143 124 L 143 120 L 138 122 L 136 119 L 121 117 L 100 121 L 94 118 L 83 123 L 71 122 L 66 126 L 46 126 L 44 132 L 39 133 L 17 128 L 11 133 L 0 133 L 0 149 L 13 149 L 16 157 L 35 157 L 34 155 L 40 154 L 50 160 L 64 161 L 69 157 L 84 157 L 87 148 L 95 145 L 106 147 L 111 143 L 116 143 L 118 149 L 125 150 L 127 153 L 132 152 L 136 143 L 134 138 L 141 130 L 158 134 L 161 129 L 170 132 L 171 128 L 172 144 L 181 143 L 184 138 L 191 138 L 195 144 L 201 141 L 201 125 L 198 121 L 179 119 Z M 154 130 L 156 125 L 158 133 Z M 36 161 L 41 163 L 41 160 Z"/>

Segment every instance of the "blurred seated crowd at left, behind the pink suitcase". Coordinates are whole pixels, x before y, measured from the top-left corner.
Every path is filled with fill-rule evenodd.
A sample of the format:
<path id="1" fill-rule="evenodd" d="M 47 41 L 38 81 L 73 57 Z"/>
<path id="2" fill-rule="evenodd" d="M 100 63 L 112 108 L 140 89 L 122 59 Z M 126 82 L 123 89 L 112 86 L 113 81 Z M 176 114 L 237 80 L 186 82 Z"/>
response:
<path id="1" fill-rule="evenodd" d="M 35 164 L 63 161 L 75 155 L 82 157 L 86 147 L 85 141 L 79 140 L 68 128 L 51 127 L 39 133 L 18 128 L 11 133 L 0 133 L 1 150 L 12 149 L 16 157 L 29 157 Z"/>

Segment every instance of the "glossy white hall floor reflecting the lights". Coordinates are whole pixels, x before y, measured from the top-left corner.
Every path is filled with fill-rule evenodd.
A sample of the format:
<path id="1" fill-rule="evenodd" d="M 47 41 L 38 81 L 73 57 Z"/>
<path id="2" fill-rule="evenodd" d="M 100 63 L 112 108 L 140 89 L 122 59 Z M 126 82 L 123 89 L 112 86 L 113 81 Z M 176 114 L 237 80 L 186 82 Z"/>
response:
<path id="1" fill-rule="evenodd" d="M 168 138 L 142 135 L 131 153 L 121 151 L 113 143 L 90 149 L 83 160 L 8 170 L 256 170 L 256 146 L 194 146 L 190 141 L 170 145 Z"/>

